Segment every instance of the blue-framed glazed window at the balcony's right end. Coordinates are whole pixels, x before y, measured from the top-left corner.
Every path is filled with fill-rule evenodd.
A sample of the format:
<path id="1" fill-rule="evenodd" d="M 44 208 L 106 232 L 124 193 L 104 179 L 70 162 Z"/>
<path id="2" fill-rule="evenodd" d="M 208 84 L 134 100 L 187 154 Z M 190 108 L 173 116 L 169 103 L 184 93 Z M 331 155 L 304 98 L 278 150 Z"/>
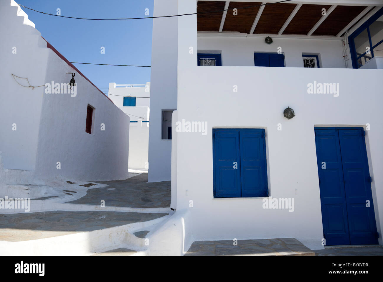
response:
<path id="1" fill-rule="evenodd" d="M 380 18 L 380 16 L 383 15 L 383 8 L 381 8 L 378 12 L 376 12 L 371 18 L 369 18 L 363 25 L 361 25 L 357 30 L 355 30 L 350 36 L 349 36 L 349 45 L 350 45 L 350 53 L 351 53 L 351 61 L 352 61 L 352 68 L 358 69 L 363 65 L 363 61 L 367 63 L 367 59 L 372 59 L 374 57 L 374 49 L 379 46 L 381 47 L 381 44 L 383 43 L 383 38 L 379 38 L 379 40 L 375 40 L 372 42 L 372 36 L 371 36 L 371 30 L 370 27 L 375 21 Z M 368 41 L 368 46 L 357 46 L 359 45 L 357 38 L 365 38 L 366 41 Z M 356 40 L 355 40 L 356 39 Z M 363 41 L 363 40 L 362 40 Z M 362 51 L 357 52 L 357 47 L 363 47 Z M 367 53 L 366 47 L 370 47 L 370 53 Z M 377 50 L 376 50 L 377 51 Z"/>

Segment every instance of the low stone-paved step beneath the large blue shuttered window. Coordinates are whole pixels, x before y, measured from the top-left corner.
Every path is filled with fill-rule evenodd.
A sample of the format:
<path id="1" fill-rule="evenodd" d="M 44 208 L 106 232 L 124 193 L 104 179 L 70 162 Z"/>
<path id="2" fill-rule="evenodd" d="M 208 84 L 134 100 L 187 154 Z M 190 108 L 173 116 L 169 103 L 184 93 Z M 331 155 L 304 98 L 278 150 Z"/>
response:
<path id="1" fill-rule="evenodd" d="M 295 238 L 195 241 L 185 256 L 314 256 L 314 251 Z"/>

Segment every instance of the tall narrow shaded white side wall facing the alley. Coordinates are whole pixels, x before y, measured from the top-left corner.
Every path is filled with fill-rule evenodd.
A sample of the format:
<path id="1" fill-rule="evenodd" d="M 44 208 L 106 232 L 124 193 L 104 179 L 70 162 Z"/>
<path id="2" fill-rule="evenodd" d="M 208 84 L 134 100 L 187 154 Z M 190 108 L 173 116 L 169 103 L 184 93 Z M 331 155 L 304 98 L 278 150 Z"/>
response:
<path id="1" fill-rule="evenodd" d="M 177 0 L 155 0 L 154 16 L 177 15 Z M 177 18 L 153 19 L 148 181 L 170 180 L 172 141 L 161 140 L 161 110 L 177 108 Z"/>

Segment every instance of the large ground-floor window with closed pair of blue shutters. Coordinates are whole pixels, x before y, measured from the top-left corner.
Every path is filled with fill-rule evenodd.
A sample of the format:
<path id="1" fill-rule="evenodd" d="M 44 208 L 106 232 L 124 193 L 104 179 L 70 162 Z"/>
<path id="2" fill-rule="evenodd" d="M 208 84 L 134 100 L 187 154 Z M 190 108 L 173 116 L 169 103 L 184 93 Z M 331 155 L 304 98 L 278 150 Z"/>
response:
<path id="1" fill-rule="evenodd" d="M 268 196 L 264 129 L 213 129 L 213 193 Z"/>

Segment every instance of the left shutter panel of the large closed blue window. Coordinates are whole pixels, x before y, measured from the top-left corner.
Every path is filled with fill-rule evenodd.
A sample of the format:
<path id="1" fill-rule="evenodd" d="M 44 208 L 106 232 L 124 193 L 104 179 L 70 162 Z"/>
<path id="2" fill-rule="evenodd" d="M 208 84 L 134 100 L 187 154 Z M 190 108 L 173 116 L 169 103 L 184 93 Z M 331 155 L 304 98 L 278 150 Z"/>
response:
<path id="1" fill-rule="evenodd" d="M 214 155 L 214 196 L 241 197 L 239 132 L 216 131 Z M 237 162 L 236 168 L 234 162 Z"/>

